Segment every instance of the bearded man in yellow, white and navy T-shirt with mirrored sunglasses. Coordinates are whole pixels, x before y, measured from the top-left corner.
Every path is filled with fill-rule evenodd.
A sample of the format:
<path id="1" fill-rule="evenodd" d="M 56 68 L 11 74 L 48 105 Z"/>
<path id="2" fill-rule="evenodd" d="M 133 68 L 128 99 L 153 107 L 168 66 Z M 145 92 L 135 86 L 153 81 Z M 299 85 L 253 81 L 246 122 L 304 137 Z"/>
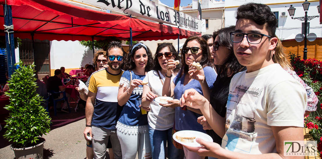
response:
<path id="1" fill-rule="evenodd" d="M 107 50 L 109 67 L 94 72 L 89 79 L 84 137 L 87 140 L 86 136 L 89 132 L 90 137 L 93 138 L 92 145 L 95 159 L 105 159 L 109 137 L 114 158 L 122 158 L 121 145 L 115 126 L 122 109 L 118 105 L 117 94 L 118 83 L 123 74 L 120 68 L 123 65 L 124 54 L 122 44 L 112 41 Z"/>

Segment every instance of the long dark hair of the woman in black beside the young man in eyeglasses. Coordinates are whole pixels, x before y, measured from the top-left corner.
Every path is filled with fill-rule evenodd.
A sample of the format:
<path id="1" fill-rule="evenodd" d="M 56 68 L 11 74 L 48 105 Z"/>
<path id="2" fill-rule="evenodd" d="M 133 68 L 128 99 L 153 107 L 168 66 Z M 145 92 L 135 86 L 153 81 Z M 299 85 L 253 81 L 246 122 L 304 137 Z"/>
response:
<path id="1" fill-rule="evenodd" d="M 227 28 L 222 28 L 218 31 L 213 32 L 213 39 L 216 39 L 218 36 L 219 39 L 219 46 L 227 48 L 229 51 L 228 59 L 223 63 L 223 65 L 219 66 L 219 71 L 222 71 L 220 73 L 220 76 L 227 76 L 230 74 L 228 71 L 233 71 L 234 73 L 239 72 L 244 68 L 241 64 L 239 64 L 235 54 L 234 54 L 234 48 L 233 48 L 233 42 L 230 39 L 230 32 L 235 31 L 235 26 L 230 26 Z M 215 40 L 213 40 L 215 41 Z M 219 72 L 218 72 L 219 74 Z"/>

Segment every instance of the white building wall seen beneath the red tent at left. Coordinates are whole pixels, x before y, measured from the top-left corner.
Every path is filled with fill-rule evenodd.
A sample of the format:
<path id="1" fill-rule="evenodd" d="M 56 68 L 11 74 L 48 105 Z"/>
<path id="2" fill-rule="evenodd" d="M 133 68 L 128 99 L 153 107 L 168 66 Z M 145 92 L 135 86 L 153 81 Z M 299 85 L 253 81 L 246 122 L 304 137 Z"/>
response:
<path id="1" fill-rule="evenodd" d="M 74 69 L 92 64 L 93 51 L 82 46 L 79 41 L 50 41 L 50 69 Z M 66 71 L 69 73 L 69 71 Z"/>

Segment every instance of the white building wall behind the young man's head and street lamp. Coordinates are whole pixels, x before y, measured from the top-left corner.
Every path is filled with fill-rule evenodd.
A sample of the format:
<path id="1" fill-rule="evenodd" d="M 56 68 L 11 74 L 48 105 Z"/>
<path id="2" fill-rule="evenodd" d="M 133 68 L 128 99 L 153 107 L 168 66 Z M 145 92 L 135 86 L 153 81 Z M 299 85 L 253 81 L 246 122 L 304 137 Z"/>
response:
<path id="1" fill-rule="evenodd" d="M 294 17 L 303 17 L 305 16 L 305 12 L 303 10 L 302 3 L 304 1 L 294 1 L 294 0 L 283 0 L 283 2 L 279 0 L 246 0 L 246 2 L 235 1 L 235 0 L 226 0 L 225 1 L 225 26 L 231 26 L 236 24 L 236 10 L 238 6 L 249 3 L 262 3 L 268 4 L 271 8 L 272 12 L 279 12 L 279 24 L 276 29 L 276 35 L 282 39 L 294 39 L 295 35 L 301 33 L 302 22 L 297 19 L 292 19 L 289 16 L 288 9 L 290 5 L 296 8 Z M 317 6 L 319 5 L 319 1 L 312 0 L 310 2 L 310 7 L 308 10 L 308 16 L 316 16 L 319 15 L 317 12 Z M 286 6 L 286 7 L 285 7 Z M 282 12 L 286 12 L 287 16 L 281 16 Z M 322 37 L 322 25 L 319 22 L 319 18 L 314 18 L 310 21 L 310 33 L 315 33 L 317 37 Z"/>

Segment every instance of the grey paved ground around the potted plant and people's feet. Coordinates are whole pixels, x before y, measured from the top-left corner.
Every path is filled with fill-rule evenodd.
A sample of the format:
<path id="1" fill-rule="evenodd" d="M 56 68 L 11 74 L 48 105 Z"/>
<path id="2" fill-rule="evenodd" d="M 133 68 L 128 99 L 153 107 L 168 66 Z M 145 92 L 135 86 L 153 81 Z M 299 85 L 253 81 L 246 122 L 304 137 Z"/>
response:
<path id="1" fill-rule="evenodd" d="M 71 102 L 71 107 L 75 108 L 76 103 Z M 85 128 L 85 110 L 81 105 L 80 111 L 75 112 L 71 108 L 71 113 L 57 112 L 54 116 L 50 111 L 52 126 L 49 134 L 44 135 L 44 159 L 84 159 L 86 158 L 86 141 L 83 137 Z M 1 121 L 3 122 L 3 121 Z M 2 128 L 5 123 L 1 123 Z M 3 138 L 6 129 L 0 131 L 0 159 L 14 159 L 14 152 L 10 149 L 12 142 Z M 183 158 L 183 151 L 182 151 Z M 107 159 L 109 156 L 107 155 Z M 137 159 L 137 157 L 136 157 Z"/>

